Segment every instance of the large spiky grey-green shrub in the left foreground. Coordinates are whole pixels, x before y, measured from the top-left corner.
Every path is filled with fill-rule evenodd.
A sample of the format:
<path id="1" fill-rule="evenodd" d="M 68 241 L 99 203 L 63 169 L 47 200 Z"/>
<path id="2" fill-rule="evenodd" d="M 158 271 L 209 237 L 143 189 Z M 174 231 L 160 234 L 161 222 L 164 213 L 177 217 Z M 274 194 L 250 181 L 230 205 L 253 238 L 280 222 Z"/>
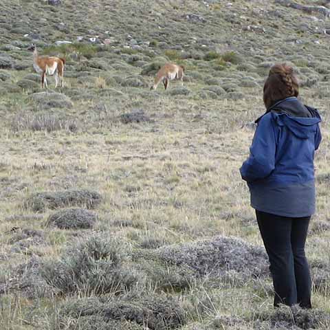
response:
<path id="1" fill-rule="evenodd" d="M 115 239 L 94 235 L 69 248 L 60 261 L 44 263 L 41 275 L 63 294 L 124 292 L 136 278 L 122 265 L 123 248 Z"/>

